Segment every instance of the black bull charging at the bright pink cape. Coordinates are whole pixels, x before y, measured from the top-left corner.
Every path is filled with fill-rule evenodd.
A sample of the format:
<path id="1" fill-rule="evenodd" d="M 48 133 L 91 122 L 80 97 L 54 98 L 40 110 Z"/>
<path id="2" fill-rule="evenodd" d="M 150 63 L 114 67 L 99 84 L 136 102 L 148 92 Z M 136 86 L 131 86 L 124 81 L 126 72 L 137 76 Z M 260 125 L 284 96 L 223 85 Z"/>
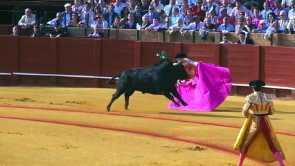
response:
<path id="1" fill-rule="evenodd" d="M 185 80 L 188 77 L 188 73 L 182 64 L 174 65 L 170 60 L 162 60 L 154 66 L 123 71 L 107 82 L 110 84 L 114 83 L 116 77 L 118 77 L 116 81 L 116 93 L 114 93 L 111 101 L 107 105 L 107 111 L 111 109 L 111 104 L 114 100 L 119 98 L 123 93 L 125 93 L 125 109 L 128 109 L 129 97 L 134 91 L 141 91 L 142 93 L 154 95 L 165 95 L 175 106 L 179 106 L 174 100 L 174 96 L 184 106 L 188 105 L 181 99 L 175 88 L 177 80 Z"/>

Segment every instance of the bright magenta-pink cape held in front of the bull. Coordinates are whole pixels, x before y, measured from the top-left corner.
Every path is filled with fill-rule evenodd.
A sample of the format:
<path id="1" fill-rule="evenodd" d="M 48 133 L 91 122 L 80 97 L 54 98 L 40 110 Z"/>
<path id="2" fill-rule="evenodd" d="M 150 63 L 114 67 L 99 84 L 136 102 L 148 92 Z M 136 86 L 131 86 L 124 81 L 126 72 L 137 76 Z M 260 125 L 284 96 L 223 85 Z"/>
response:
<path id="1" fill-rule="evenodd" d="M 231 91 L 229 68 L 199 62 L 195 79 L 180 83 L 178 93 L 188 106 L 175 107 L 170 102 L 169 109 L 183 111 L 212 111 L 218 107 Z M 175 98 L 175 101 L 179 102 Z M 180 102 L 179 102 L 180 104 Z"/>

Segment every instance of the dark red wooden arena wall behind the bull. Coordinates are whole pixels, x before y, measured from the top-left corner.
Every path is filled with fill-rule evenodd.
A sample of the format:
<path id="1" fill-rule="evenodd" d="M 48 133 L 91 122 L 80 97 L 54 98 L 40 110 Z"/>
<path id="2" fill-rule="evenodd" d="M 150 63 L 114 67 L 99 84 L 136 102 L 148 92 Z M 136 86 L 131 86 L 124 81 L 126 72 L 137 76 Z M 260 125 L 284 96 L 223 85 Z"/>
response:
<path id="1" fill-rule="evenodd" d="M 59 75 L 113 76 L 128 68 L 159 62 L 157 53 L 169 59 L 179 52 L 195 61 L 229 67 L 235 84 L 265 80 L 268 85 L 295 87 L 295 51 L 292 47 L 143 42 L 88 37 L 0 36 L 0 73 L 45 73 Z M 0 75 L 1 85 L 114 87 L 103 79 Z M 294 95 L 292 90 L 269 89 L 278 96 Z M 249 93 L 233 86 L 232 94 Z"/>

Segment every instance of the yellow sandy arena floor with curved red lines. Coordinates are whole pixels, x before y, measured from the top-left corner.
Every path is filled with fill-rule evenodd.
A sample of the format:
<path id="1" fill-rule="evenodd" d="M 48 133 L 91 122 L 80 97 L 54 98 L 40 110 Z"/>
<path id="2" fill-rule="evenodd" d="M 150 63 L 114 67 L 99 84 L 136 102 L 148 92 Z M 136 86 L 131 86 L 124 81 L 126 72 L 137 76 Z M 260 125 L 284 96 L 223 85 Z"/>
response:
<path id="1" fill-rule="evenodd" d="M 174 111 L 161 95 L 134 93 L 125 111 L 115 89 L 0 87 L 0 165 L 235 165 L 244 97 L 211 112 Z M 271 117 L 295 165 L 295 101 L 275 100 Z M 278 165 L 246 158 L 244 165 Z"/>

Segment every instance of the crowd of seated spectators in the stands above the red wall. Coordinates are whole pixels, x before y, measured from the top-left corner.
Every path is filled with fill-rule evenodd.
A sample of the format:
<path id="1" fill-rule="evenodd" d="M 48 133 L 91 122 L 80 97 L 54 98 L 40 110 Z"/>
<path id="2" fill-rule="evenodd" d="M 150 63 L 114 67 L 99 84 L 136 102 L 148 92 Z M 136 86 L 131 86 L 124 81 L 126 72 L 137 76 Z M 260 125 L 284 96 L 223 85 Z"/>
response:
<path id="1" fill-rule="evenodd" d="M 19 26 L 35 24 L 35 15 L 26 9 Z M 197 30 L 204 39 L 207 33 L 216 31 L 239 36 L 242 32 L 246 37 L 249 33 L 265 33 L 268 38 L 271 33 L 294 34 L 295 0 L 73 0 L 47 25 L 94 31 L 168 30 L 170 34 Z"/>

